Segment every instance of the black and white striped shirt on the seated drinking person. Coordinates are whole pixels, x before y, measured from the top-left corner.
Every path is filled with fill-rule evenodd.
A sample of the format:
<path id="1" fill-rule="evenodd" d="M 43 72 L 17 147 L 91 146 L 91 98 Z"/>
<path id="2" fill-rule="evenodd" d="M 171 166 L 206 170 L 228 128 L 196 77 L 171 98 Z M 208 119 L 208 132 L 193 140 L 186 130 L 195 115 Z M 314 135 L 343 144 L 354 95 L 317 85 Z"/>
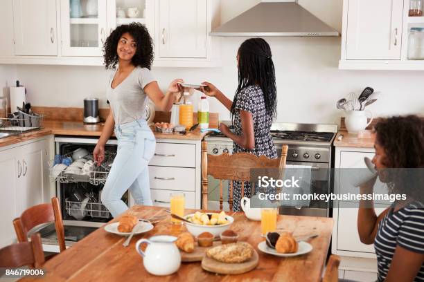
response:
<path id="1" fill-rule="evenodd" d="M 424 254 L 424 205 L 422 203 L 409 203 L 396 212 L 390 209 L 378 225 L 374 241 L 378 281 L 385 280 L 398 245 L 406 250 Z M 414 281 L 424 282 L 424 263 Z"/>

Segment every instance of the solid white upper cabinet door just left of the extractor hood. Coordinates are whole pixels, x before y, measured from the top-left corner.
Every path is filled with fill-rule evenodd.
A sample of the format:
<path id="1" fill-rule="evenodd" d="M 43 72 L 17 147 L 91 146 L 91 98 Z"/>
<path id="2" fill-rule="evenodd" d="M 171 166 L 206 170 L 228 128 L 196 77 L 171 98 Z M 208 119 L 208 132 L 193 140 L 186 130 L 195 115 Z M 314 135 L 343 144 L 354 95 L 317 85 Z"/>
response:
<path id="1" fill-rule="evenodd" d="M 206 58 L 206 0 L 159 0 L 159 57 Z"/>

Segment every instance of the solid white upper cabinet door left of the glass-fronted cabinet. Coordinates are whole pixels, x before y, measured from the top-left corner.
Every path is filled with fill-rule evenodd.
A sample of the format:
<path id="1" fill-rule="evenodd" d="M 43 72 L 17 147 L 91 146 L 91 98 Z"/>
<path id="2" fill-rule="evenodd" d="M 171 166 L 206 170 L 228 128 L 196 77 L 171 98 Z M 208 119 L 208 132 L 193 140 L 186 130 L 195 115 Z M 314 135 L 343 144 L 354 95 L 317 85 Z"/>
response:
<path id="1" fill-rule="evenodd" d="M 15 55 L 58 55 L 56 1 L 13 0 L 13 30 Z"/>

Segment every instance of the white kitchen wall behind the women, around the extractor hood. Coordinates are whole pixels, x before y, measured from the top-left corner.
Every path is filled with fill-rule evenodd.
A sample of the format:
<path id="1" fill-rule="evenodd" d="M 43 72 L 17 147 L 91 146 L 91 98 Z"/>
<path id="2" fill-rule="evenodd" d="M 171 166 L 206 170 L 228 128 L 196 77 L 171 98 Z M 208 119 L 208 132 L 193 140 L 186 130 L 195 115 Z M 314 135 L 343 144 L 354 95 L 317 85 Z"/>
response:
<path id="1" fill-rule="evenodd" d="M 222 1 L 227 21 L 258 0 Z M 247 5 L 249 3 L 249 5 Z M 337 30 L 341 28 L 342 0 L 299 0 L 310 12 Z M 222 39 L 222 68 L 154 68 L 164 90 L 177 77 L 189 82 L 208 80 L 229 97 L 237 86 L 236 52 L 244 38 Z M 337 123 L 343 115 L 335 102 L 365 86 L 382 91 L 369 109 L 375 115 L 424 114 L 423 71 L 340 71 L 340 38 L 268 38 L 276 66 L 280 122 Z M 17 76 L 28 88 L 27 100 L 37 106 L 82 107 L 85 97 L 99 97 L 105 107 L 107 72 L 89 66 L 17 66 Z M 0 76 L 1 77 L 1 76 Z M 197 94 L 198 96 L 198 94 Z M 223 106 L 211 99 L 211 111 L 229 118 Z"/>

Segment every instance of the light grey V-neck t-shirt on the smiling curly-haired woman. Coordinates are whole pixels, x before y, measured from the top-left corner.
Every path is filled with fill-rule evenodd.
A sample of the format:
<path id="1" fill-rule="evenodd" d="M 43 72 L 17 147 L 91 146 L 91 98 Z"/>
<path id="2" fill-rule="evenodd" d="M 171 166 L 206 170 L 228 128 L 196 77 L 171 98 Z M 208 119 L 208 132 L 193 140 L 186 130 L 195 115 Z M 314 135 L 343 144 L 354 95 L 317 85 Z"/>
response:
<path id="1" fill-rule="evenodd" d="M 121 84 L 112 88 L 116 70 L 112 71 L 107 85 L 106 97 L 114 113 L 115 124 L 134 122 L 145 118 L 144 107 L 148 97 L 144 92 L 144 86 L 156 81 L 148 68 L 137 66 L 132 70 Z"/>

